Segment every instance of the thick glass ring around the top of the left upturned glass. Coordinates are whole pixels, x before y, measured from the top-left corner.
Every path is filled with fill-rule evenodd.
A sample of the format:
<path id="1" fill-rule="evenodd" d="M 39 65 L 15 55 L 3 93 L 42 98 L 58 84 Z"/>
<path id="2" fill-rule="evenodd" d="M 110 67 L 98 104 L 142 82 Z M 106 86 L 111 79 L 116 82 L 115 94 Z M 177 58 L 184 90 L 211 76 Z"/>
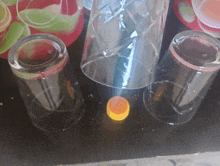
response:
<path id="1" fill-rule="evenodd" d="M 45 64 L 40 63 L 37 65 L 28 65 L 28 64 L 22 65 L 23 64 L 22 62 L 17 62 L 17 60 L 20 57 L 16 53 L 17 50 L 28 42 L 38 41 L 40 39 L 48 40 L 58 45 L 60 49 L 59 55 L 56 57 L 53 56 Z M 63 68 L 63 66 L 65 66 L 67 60 L 68 60 L 67 49 L 63 41 L 58 37 L 49 34 L 33 34 L 24 37 L 20 39 L 17 43 L 15 43 L 10 48 L 8 53 L 8 63 L 12 68 L 14 74 L 18 77 L 27 78 L 27 79 L 38 79 L 38 78 L 48 77 L 54 74 L 54 72 L 60 71 Z M 33 68 L 34 70 L 32 70 Z M 45 68 L 45 70 L 41 71 L 41 69 L 43 68 Z M 23 72 L 26 73 L 24 74 Z"/>

